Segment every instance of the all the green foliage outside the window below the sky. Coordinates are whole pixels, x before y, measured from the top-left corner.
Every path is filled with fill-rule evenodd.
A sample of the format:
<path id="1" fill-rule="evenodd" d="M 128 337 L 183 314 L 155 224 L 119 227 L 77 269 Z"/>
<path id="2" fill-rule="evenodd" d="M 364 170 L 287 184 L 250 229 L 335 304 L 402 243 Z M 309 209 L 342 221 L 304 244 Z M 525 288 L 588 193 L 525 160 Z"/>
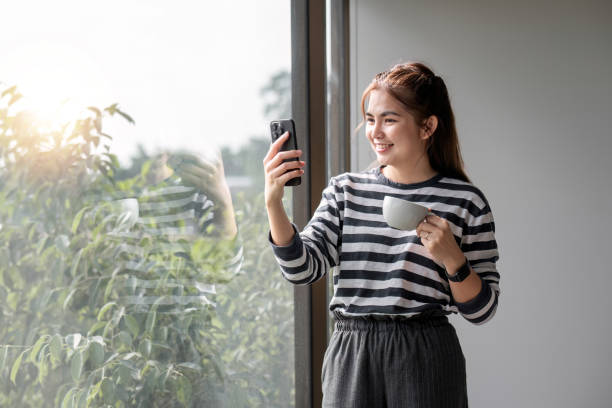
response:
<path id="1" fill-rule="evenodd" d="M 131 118 L 112 105 L 44 129 L 14 112 L 19 97 L 0 100 L 0 406 L 287 406 L 292 298 L 261 239 L 261 195 L 236 203 L 242 275 L 224 268 L 236 242 L 206 237 L 126 273 L 125 245 L 109 237 L 132 226 L 113 200 L 144 188 L 150 162 L 119 181 L 102 122 Z M 147 292 L 149 307 L 126 303 L 144 280 L 176 284 Z M 221 285 L 218 307 L 166 302 L 197 293 L 186 281 Z"/>

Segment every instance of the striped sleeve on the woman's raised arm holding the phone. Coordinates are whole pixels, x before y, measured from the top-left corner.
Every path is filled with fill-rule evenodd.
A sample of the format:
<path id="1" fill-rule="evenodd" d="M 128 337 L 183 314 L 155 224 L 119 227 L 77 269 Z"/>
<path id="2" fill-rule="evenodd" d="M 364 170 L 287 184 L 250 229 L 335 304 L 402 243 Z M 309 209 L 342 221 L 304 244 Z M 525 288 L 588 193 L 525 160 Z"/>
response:
<path id="1" fill-rule="evenodd" d="M 296 285 L 311 284 L 321 279 L 339 263 L 343 194 L 332 179 L 319 207 L 301 233 L 293 225 L 293 240 L 287 246 L 275 245 L 269 234 L 274 256 L 283 276 Z"/>

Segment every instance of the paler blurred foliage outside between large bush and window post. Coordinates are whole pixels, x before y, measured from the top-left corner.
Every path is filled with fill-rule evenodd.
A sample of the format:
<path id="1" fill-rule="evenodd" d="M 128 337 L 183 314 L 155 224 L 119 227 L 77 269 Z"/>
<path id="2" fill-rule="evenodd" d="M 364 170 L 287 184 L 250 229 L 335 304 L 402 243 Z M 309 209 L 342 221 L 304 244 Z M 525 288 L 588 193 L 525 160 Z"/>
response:
<path id="1" fill-rule="evenodd" d="M 290 200 L 290 198 L 288 199 Z M 242 274 L 220 290 L 218 324 L 224 333 L 227 407 L 294 405 L 293 288 L 281 278 L 265 237 L 263 194 L 238 196 L 244 242 Z"/>

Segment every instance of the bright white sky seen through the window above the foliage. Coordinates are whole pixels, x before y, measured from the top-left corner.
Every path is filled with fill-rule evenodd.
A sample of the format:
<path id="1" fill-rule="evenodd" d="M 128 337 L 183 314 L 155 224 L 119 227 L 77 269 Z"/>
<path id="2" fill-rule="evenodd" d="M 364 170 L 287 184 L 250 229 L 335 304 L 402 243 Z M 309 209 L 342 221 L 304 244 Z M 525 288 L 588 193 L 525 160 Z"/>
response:
<path id="1" fill-rule="evenodd" d="M 1 7 L 0 89 L 17 85 L 24 107 L 58 120 L 118 103 L 136 124 L 109 119 L 104 130 L 124 163 L 138 143 L 207 154 L 267 136 L 259 90 L 291 66 L 289 0 Z"/>

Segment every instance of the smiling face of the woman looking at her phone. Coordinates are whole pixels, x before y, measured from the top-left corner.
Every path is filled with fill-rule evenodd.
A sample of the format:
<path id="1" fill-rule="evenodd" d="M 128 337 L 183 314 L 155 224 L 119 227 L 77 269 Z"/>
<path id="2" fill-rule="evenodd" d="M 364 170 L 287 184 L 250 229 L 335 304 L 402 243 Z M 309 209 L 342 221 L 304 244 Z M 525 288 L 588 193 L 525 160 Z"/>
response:
<path id="1" fill-rule="evenodd" d="M 406 168 L 425 154 L 425 128 L 418 126 L 414 116 L 384 90 L 370 92 L 365 132 L 380 164 Z"/>

